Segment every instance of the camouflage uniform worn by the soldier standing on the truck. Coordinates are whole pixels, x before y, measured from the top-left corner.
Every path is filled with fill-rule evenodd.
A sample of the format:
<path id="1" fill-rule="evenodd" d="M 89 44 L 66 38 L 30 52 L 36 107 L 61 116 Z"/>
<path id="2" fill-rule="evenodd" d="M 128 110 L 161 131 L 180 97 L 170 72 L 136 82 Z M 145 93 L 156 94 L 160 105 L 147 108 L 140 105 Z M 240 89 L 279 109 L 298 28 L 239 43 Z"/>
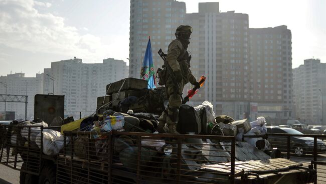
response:
<path id="1" fill-rule="evenodd" d="M 176 124 L 179 120 L 179 107 L 182 102 L 181 93 L 184 89 L 185 84 L 187 84 L 188 82 L 194 85 L 198 85 L 196 78 L 190 70 L 189 52 L 187 51 L 189 43 L 185 46 L 185 43 L 183 44 L 183 42 L 184 41 L 177 38 L 173 40 L 169 45 L 167 62 L 170 64 L 174 73 L 181 72 L 182 80 L 178 81 L 179 90 L 176 91 L 174 86 L 175 82 L 173 81 L 173 77 L 171 76 L 172 73 L 169 73 L 169 77 L 166 83 L 166 90 L 169 98 L 169 107 L 166 109 L 165 112 L 162 113 L 162 115 L 158 119 L 158 129 L 160 132 L 162 132 L 162 127 L 164 127 L 164 124 L 168 123 L 169 133 L 178 133 L 176 131 Z"/>

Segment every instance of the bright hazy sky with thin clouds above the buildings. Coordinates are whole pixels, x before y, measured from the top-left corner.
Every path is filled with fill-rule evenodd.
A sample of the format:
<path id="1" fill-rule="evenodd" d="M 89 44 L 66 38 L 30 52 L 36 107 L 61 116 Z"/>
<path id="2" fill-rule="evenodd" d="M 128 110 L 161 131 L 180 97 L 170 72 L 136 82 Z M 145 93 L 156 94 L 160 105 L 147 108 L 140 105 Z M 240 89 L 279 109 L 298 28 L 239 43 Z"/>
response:
<path id="1" fill-rule="evenodd" d="M 198 2 L 185 1 L 187 12 Z M 303 59 L 326 62 L 326 0 L 219 0 L 222 12 L 249 14 L 249 27 L 287 25 L 293 67 Z M 129 56 L 129 0 L 0 0 L 0 75 L 35 76 L 51 61 L 85 63 Z M 196 30 L 194 30 L 196 31 Z"/>

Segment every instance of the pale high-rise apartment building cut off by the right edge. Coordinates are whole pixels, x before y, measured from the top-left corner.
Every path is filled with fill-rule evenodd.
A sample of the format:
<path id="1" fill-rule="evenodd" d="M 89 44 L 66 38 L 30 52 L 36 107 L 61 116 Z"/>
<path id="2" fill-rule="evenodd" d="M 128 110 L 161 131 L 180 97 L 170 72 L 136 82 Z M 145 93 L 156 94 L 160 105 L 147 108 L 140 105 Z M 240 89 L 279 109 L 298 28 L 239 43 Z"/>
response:
<path id="1" fill-rule="evenodd" d="M 304 64 L 293 69 L 295 118 L 302 123 L 324 124 L 325 78 L 326 64 L 320 59 L 305 59 Z"/>

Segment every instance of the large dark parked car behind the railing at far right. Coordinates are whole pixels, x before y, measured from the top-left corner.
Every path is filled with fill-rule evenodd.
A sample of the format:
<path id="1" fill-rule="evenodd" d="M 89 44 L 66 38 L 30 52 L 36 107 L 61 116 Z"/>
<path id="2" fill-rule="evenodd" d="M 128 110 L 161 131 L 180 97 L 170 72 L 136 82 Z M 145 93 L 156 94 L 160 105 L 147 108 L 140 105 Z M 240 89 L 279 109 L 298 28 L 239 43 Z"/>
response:
<path id="1" fill-rule="evenodd" d="M 286 134 L 303 134 L 300 131 L 287 128 L 287 127 L 277 127 L 269 126 L 267 127 L 268 133 L 286 133 Z M 268 140 L 271 143 L 272 147 L 278 147 L 281 151 L 287 151 L 287 136 L 281 135 L 269 135 Z M 313 150 L 313 137 L 299 137 L 291 136 L 290 137 L 290 151 L 297 156 L 301 156 L 306 153 L 312 153 Z M 325 143 L 317 139 L 317 152 L 324 153 L 326 152 Z"/>

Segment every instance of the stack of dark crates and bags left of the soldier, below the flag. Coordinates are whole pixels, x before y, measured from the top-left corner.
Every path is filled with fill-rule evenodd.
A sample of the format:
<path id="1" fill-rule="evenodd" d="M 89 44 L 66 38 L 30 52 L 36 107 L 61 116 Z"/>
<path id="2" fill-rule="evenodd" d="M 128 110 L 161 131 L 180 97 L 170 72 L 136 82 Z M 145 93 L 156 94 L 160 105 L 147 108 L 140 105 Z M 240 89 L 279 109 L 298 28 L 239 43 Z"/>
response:
<path id="1" fill-rule="evenodd" d="M 106 95 L 97 98 L 97 113 L 107 109 L 126 113 L 161 113 L 167 99 L 165 87 L 147 89 L 147 81 L 137 78 L 125 78 L 106 86 Z"/>

